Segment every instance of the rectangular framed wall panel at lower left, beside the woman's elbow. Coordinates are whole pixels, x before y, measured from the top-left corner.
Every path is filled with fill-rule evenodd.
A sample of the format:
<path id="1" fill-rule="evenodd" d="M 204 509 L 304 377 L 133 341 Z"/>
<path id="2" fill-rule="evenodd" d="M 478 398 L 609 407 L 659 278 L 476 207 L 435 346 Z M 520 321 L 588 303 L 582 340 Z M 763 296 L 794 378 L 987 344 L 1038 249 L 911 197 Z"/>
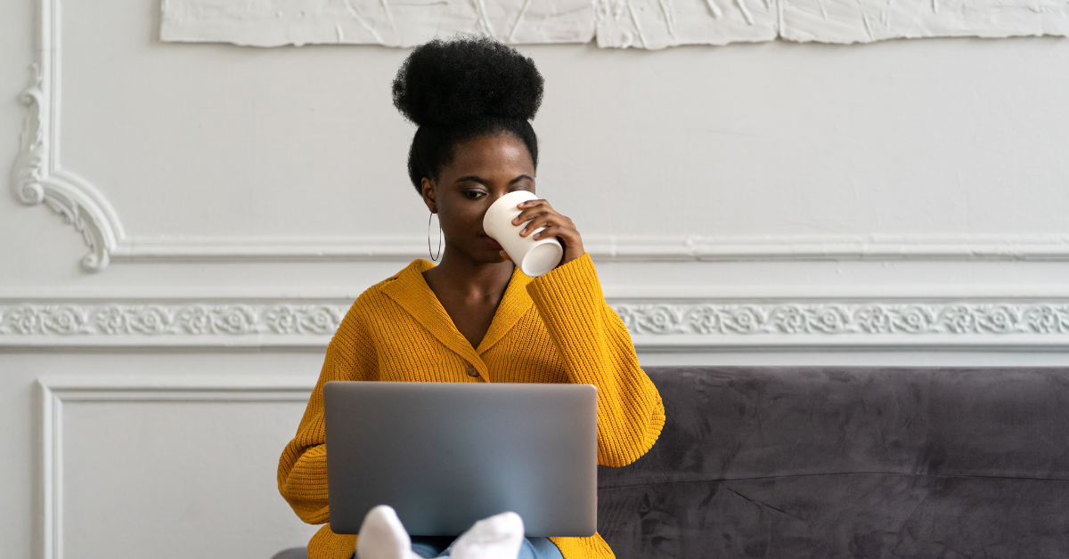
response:
<path id="1" fill-rule="evenodd" d="M 270 557 L 305 543 L 278 455 L 307 377 L 46 377 L 46 559 Z"/>

